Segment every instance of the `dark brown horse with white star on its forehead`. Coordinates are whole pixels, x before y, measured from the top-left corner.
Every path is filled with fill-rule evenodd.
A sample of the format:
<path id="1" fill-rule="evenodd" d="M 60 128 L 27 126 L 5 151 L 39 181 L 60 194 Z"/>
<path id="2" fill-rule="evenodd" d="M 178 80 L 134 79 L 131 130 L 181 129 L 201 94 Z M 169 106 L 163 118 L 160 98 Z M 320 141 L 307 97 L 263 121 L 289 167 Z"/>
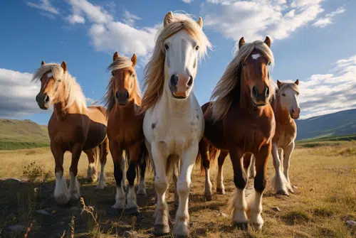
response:
<path id="1" fill-rule="evenodd" d="M 271 40 L 245 43 L 239 40 L 239 50 L 226 67 L 211 94 L 211 105 L 204 114 L 205 130 L 199 143 L 199 153 L 209 173 L 209 147 L 230 154 L 236 186 L 230 208 L 236 227 L 246 228 L 248 222 L 262 229 L 262 196 L 266 188 L 266 166 L 271 153 L 276 121 L 269 102 L 274 94 L 268 65 L 273 65 Z M 215 99 L 215 100 L 214 100 Z M 256 157 L 254 193 L 246 204 L 246 172 L 244 156 Z"/>

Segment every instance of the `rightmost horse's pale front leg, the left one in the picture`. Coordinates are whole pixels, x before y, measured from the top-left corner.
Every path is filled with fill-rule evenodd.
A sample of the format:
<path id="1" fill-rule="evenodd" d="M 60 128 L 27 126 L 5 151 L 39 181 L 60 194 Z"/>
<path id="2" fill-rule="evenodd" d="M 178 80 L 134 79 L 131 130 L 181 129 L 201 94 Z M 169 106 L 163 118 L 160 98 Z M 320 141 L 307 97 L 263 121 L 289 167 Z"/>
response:
<path id="1" fill-rule="evenodd" d="M 272 179 L 272 185 L 276 190 L 276 193 L 279 195 L 287 195 L 288 194 L 288 181 L 284 174 L 281 171 L 281 159 L 279 158 L 278 155 L 278 146 L 276 142 L 272 143 L 272 156 L 273 156 L 273 166 L 276 171 L 276 174 L 274 175 Z M 257 161 L 257 159 L 256 159 Z M 257 168 L 257 166 L 256 166 Z"/>

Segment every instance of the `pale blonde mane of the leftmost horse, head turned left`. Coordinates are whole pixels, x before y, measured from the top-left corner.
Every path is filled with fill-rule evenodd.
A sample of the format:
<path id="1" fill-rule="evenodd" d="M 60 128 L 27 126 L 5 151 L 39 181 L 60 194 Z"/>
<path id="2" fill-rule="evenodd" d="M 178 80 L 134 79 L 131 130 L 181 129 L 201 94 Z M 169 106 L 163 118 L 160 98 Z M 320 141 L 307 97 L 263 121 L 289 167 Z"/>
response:
<path id="1" fill-rule="evenodd" d="M 52 72 L 53 78 L 55 80 L 62 80 L 61 83 L 64 84 L 64 92 L 62 92 L 64 96 L 63 101 L 66 104 L 64 109 L 68 109 L 75 104 L 81 113 L 81 109 L 87 107 L 83 91 L 78 82 L 76 82 L 75 77 L 70 75 L 68 70 L 64 72 L 63 67 L 58 63 L 46 63 L 42 65 L 33 74 L 32 81 L 41 80 L 41 77 L 48 72 Z"/>

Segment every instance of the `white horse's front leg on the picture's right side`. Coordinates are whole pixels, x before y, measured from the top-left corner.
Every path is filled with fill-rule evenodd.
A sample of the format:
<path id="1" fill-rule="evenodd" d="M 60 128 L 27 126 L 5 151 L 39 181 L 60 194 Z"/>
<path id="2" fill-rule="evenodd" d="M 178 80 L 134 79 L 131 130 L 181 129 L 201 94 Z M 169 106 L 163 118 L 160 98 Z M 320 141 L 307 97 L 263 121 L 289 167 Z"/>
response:
<path id="1" fill-rule="evenodd" d="M 192 170 L 197 158 L 199 146 L 192 145 L 187 151 L 182 153 L 182 166 L 177 181 L 177 193 L 179 195 L 179 205 L 174 224 L 174 235 L 177 237 L 188 237 L 189 234 L 189 193 L 192 187 Z"/>

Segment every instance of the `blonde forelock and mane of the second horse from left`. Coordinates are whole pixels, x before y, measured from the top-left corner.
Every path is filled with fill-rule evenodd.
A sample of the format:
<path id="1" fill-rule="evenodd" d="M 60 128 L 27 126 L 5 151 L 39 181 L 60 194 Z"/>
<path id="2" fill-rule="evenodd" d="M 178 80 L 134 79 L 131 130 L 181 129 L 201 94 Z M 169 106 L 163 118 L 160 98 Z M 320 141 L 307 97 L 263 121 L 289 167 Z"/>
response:
<path id="1" fill-rule="evenodd" d="M 109 65 L 108 70 L 110 70 L 110 71 L 121 70 L 125 67 L 132 67 L 132 61 L 125 56 L 119 55 L 119 57 Z M 103 103 L 105 104 L 105 107 L 108 110 L 108 112 L 110 112 L 112 110 L 112 108 L 115 106 L 115 103 L 116 103 L 115 95 L 112 92 L 112 78 L 113 77 L 110 77 L 109 84 L 108 84 L 108 87 L 106 87 L 106 92 L 105 92 L 104 99 L 103 99 Z M 137 94 L 137 97 L 141 98 L 142 94 L 141 94 L 141 90 L 140 90 L 140 85 L 137 81 L 136 74 L 135 74 L 135 80 L 134 80 L 133 87 Z"/>

